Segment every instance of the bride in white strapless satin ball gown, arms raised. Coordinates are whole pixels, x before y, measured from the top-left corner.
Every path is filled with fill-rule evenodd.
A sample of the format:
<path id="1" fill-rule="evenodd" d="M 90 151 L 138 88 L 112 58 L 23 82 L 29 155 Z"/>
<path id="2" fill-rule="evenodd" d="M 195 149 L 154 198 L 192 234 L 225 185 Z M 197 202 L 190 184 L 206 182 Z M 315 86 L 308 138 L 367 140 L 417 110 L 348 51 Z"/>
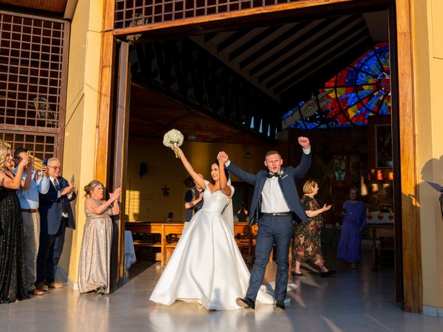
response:
<path id="1" fill-rule="evenodd" d="M 226 158 L 211 165 L 212 178 L 206 181 L 179 147 L 174 151 L 195 183 L 204 189 L 204 205 L 183 230 L 150 300 L 165 305 L 176 300 L 197 302 L 210 310 L 240 308 L 235 299 L 246 294 L 250 274 L 233 236 L 230 199 L 234 187 L 224 168 Z M 257 302 L 273 304 L 273 297 L 260 290 Z"/>

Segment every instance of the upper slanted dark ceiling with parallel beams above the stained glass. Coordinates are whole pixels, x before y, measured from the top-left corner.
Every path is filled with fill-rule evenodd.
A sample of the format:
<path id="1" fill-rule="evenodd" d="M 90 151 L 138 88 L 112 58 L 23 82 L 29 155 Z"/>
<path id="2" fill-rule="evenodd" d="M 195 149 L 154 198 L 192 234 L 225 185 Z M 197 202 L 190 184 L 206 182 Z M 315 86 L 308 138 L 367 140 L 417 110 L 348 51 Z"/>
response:
<path id="1" fill-rule="evenodd" d="M 345 15 L 191 39 L 271 98 L 293 107 L 375 42 L 386 42 L 388 15 Z"/>

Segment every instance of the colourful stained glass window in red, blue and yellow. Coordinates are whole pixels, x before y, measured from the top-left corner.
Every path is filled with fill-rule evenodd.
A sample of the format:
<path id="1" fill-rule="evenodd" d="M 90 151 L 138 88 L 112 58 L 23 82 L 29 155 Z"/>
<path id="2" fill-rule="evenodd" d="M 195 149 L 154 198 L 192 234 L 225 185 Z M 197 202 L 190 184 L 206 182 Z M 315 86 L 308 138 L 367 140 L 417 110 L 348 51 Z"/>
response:
<path id="1" fill-rule="evenodd" d="M 390 114 L 389 44 L 376 44 L 282 117 L 282 127 L 324 129 L 368 124 Z"/>

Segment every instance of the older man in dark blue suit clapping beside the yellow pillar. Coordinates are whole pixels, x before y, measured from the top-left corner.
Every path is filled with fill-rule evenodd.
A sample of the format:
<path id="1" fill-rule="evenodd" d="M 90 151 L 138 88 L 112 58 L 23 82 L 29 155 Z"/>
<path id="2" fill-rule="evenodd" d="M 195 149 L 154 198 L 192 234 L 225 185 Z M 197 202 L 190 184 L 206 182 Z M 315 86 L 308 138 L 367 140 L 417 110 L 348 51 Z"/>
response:
<path id="1" fill-rule="evenodd" d="M 49 190 L 39 194 L 40 200 L 40 245 L 37 255 L 37 281 L 35 287 L 46 291 L 62 288 L 64 284 L 55 281 L 57 267 L 64 245 L 66 228 L 75 229 L 71 201 L 75 200 L 74 184 L 61 176 L 62 164 L 57 158 L 49 158 Z"/>

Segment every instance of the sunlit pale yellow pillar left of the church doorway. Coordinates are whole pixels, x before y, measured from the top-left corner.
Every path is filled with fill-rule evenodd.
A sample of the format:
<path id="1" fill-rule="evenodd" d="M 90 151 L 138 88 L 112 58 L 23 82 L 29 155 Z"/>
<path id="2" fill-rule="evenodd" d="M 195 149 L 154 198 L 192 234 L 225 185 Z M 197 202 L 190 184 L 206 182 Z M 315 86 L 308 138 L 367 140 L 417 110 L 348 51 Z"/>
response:
<path id="1" fill-rule="evenodd" d="M 102 30 L 102 1 L 79 0 L 71 25 L 63 176 L 75 183 L 76 230 L 67 230 L 60 267 L 77 282 L 78 260 L 86 217 L 84 185 L 93 180 L 98 82 Z"/>

